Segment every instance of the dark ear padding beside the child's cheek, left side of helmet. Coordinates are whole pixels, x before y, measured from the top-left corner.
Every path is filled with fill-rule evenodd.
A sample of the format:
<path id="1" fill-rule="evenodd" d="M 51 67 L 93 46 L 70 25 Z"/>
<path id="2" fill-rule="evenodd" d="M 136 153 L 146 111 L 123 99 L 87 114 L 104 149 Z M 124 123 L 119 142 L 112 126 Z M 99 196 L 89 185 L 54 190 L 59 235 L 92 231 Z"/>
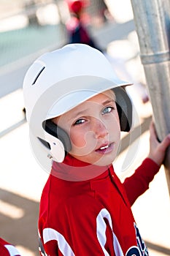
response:
<path id="1" fill-rule="evenodd" d="M 53 135 L 55 138 L 58 138 L 58 140 L 61 140 L 61 143 L 63 143 L 63 147 L 65 149 L 65 156 L 67 153 L 69 153 L 69 151 L 71 151 L 72 144 L 69 135 L 63 129 L 61 129 L 61 127 L 58 127 L 57 124 L 54 124 L 50 119 L 45 121 L 45 131 L 50 135 Z"/>

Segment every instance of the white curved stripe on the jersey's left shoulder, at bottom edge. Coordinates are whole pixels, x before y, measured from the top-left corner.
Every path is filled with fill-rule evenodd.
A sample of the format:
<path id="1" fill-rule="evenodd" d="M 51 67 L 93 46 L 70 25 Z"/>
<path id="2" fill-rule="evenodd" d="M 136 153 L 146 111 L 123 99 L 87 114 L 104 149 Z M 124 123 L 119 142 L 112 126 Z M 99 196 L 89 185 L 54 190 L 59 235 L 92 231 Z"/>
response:
<path id="1" fill-rule="evenodd" d="M 67 243 L 66 239 L 59 233 L 58 231 L 54 230 L 53 228 L 45 228 L 43 230 L 43 239 L 44 243 L 48 241 L 55 240 L 58 242 L 58 248 L 62 252 L 63 255 L 67 256 L 75 256 L 72 248 Z"/>

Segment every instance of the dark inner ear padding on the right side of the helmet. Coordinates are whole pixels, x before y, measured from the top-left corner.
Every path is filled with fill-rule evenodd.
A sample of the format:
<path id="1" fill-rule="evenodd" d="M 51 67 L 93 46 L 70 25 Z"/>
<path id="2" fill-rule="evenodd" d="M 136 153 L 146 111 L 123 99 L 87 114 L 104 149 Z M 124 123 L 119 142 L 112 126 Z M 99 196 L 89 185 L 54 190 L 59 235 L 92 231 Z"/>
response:
<path id="1" fill-rule="evenodd" d="M 116 88 L 113 91 L 116 95 L 116 106 L 120 119 L 120 130 L 122 132 L 129 132 L 132 126 L 133 114 L 131 99 L 128 97 L 128 94 L 123 88 Z"/>

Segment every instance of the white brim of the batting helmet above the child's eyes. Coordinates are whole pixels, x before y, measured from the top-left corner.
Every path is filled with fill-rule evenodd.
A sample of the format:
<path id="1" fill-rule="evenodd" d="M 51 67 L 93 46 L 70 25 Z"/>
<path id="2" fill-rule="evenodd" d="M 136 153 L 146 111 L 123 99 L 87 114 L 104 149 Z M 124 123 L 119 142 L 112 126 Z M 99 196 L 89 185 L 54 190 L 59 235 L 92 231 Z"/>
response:
<path id="1" fill-rule="evenodd" d="M 85 86 L 83 86 L 82 83 L 85 84 Z M 87 84 L 89 84 L 89 89 Z M 58 88 L 57 93 L 61 94 L 61 97 L 58 97 L 57 100 L 55 100 L 55 98 L 53 99 L 53 104 L 49 108 L 45 119 L 47 120 L 61 116 L 69 110 L 77 107 L 77 105 L 80 105 L 82 102 L 85 102 L 104 91 L 129 85 L 131 85 L 131 83 L 127 83 L 123 80 L 113 81 L 91 76 L 81 76 L 64 80 L 60 85 L 58 84 L 58 86 L 54 86 L 53 96 L 55 96 L 55 88 Z M 85 89 L 80 89 L 83 87 Z M 65 94 L 63 94 L 63 91 L 65 91 Z"/>

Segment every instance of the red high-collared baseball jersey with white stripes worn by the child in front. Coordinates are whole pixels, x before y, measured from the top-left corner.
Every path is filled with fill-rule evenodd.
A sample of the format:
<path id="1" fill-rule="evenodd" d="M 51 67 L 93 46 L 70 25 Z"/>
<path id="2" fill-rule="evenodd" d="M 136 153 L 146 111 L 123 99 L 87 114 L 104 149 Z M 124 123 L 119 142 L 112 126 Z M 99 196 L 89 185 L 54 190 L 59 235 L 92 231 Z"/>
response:
<path id="1" fill-rule="evenodd" d="M 75 167 L 80 169 L 77 175 Z M 101 174 L 83 180 L 82 167 Z M 47 255 L 148 255 L 131 205 L 148 188 L 158 165 L 145 159 L 123 184 L 112 165 L 104 168 L 69 155 L 63 163 L 53 162 L 39 210 L 39 234 Z M 74 181 L 69 181 L 73 173 Z"/>

